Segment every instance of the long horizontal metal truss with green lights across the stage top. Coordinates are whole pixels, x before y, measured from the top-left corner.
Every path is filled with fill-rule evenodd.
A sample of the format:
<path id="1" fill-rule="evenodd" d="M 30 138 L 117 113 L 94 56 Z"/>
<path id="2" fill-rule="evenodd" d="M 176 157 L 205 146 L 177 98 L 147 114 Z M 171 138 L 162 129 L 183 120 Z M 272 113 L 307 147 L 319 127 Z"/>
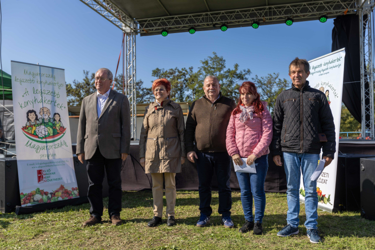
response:
<path id="1" fill-rule="evenodd" d="M 194 26 L 197 30 L 219 28 L 225 23 L 228 27 L 250 26 L 253 21 L 260 25 L 283 23 L 286 17 L 294 21 L 317 20 L 322 14 L 335 17 L 343 13 L 356 13 L 358 0 L 320 0 L 290 4 L 279 4 L 252 8 L 211 11 L 196 14 L 172 15 L 164 17 L 135 19 L 140 35 L 154 35 L 162 29 L 169 33 L 185 32 Z M 216 27 L 215 27 L 216 26 Z"/>

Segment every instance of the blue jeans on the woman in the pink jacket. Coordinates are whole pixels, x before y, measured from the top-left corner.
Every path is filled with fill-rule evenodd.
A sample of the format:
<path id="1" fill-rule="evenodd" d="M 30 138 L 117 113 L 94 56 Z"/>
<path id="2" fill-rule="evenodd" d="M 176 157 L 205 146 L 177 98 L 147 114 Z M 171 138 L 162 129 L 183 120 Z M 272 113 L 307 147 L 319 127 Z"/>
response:
<path id="1" fill-rule="evenodd" d="M 268 154 L 255 160 L 256 173 L 236 172 L 241 188 L 242 209 L 247 221 L 262 222 L 265 208 L 264 180 L 268 170 Z M 255 217 L 252 217 L 252 197 L 254 197 Z"/>

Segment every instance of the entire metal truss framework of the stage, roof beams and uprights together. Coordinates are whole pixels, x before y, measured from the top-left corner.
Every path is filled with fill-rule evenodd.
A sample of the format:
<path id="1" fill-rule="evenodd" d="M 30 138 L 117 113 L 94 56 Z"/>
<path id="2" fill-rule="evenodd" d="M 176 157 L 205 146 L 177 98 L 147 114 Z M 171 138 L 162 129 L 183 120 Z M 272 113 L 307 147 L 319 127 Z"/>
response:
<path id="1" fill-rule="evenodd" d="M 316 20 L 322 14 L 335 17 L 339 14 L 359 15 L 360 72 L 362 103 L 362 137 L 369 131 L 375 138 L 374 128 L 374 21 L 375 0 L 316 0 L 290 4 L 278 4 L 252 8 L 209 11 L 195 14 L 168 15 L 163 17 L 134 19 L 119 9 L 111 0 L 80 0 L 125 33 L 124 75 L 125 94 L 129 98 L 131 112 L 131 136 L 136 137 L 136 89 L 135 89 L 135 35 L 156 35 L 162 29 L 169 33 L 185 32 L 194 26 L 199 30 L 218 29 L 225 23 L 228 27 L 283 23 L 285 18 L 294 21 Z M 367 132 L 368 134 L 368 132 Z"/>

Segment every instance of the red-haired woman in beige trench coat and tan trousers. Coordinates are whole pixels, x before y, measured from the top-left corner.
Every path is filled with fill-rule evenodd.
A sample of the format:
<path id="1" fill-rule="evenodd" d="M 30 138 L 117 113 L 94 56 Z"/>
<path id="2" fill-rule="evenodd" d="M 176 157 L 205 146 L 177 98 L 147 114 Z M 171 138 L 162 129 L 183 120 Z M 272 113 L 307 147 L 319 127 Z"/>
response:
<path id="1" fill-rule="evenodd" d="M 185 161 L 185 122 L 182 108 L 170 99 L 170 82 L 157 79 L 152 83 L 155 100 L 144 111 L 139 138 L 140 164 L 151 173 L 153 218 L 147 226 L 161 223 L 163 210 L 163 181 L 165 182 L 167 226 L 175 225 L 175 175 Z"/>

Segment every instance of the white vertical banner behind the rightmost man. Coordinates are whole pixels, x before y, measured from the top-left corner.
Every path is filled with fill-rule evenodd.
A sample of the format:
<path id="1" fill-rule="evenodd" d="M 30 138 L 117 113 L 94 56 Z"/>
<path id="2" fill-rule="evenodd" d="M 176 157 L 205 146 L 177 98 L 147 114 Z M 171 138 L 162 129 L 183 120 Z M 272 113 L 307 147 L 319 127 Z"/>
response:
<path id="1" fill-rule="evenodd" d="M 327 97 L 329 107 L 332 111 L 334 130 L 336 133 L 336 152 L 334 153 L 334 159 L 324 168 L 316 183 L 318 208 L 329 212 L 333 209 L 336 185 L 344 57 L 345 48 L 342 48 L 308 61 L 310 64 L 310 75 L 307 80 L 310 87 L 319 89 Z M 322 152 L 320 152 L 320 159 L 321 157 Z M 318 162 L 316 162 L 316 166 L 317 164 Z M 303 178 L 301 175 L 299 198 L 303 202 L 304 195 Z"/>

